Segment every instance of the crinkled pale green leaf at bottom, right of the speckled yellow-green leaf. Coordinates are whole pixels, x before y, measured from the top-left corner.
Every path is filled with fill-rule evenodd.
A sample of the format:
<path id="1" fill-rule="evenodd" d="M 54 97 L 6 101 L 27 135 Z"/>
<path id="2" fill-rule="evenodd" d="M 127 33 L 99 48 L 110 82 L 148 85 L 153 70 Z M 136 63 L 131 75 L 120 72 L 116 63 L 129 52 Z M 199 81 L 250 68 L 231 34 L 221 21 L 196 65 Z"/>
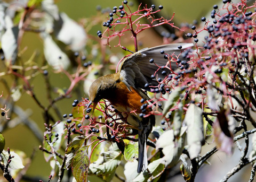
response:
<path id="1" fill-rule="evenodd" d="M 115 176 L 116 168 L 119 166 L 121 159 L 121 152 L 119 152 L 116 144 L 113 144 L 113 148 L 110 148 L 108 152 L 103 152 L 96 162 L 90 164 L 89 172 L 105 181 L 111 181 Z"/>

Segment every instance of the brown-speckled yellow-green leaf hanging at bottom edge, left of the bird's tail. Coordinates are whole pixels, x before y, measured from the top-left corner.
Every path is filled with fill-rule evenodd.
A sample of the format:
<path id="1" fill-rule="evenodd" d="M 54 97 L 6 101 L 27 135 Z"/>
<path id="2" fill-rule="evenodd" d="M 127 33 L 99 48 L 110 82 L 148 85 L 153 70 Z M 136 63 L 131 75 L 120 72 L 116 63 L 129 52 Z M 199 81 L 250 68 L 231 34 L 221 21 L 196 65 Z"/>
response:
<path id="1" fill-rule="evenodd" d="M 82 146 L 82 148 L 77 150 L 71 168 L 77 182 L 86 181 L 89 165 L 87 146 Z"/>

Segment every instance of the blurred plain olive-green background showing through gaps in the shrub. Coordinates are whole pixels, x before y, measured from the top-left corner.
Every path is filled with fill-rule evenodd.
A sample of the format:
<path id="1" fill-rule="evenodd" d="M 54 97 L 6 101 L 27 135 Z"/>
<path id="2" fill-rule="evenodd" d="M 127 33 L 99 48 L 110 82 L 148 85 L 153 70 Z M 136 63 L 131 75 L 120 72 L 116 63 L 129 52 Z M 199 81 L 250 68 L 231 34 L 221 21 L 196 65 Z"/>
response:
<path id="1" fill-rule="evenodd" d="M 133 8 L 137 9 L 140 1 L 129 1 L 133 2 Z M 105 1 L 86 1 L 86 0 L 59 0 L 56 1 L 59 11 L 65 12 L 71 19 L 75 21 L 79 21 L 82 18 L 87 18 L 91 16 L 97 15 L 96 7 L 100 5 L 102 8 L 113 6 L 119 6 L 122 4 L 122 1 L 119 0 L 105 0 Z M 172 17 L 174 15 L 175 26 L 179 27 L 180 23 L 192 23 L 193 20 L 198 20 L 200 22 L 201 17 L 204 16 L 207 12 L 212 10 L 212 6 L 217 3 L 215 0 L 183 0 L 183 1 L 170 1 L 170 0 L 162 0 L 162 1 L 154 1 L 154 4 L 158 7 L 158 5 L 163 5 L 163 13 L 166 17 Z M 151 4 L 149 4 L 151 6 Z M 107 17 L 106 17 L 107 19 Z M 100 28 L 96 26 L 89 33 L 92 33 L 93 36 L 96 35 L 95 32 Z M 159 37 L 159 39 L 161 39 Z M 152 40 L 154 41 L 154 40 Z M 35 50 L 38 51 L 38 61 L 43 60 L 43 45 L 41 39 L 39 39 L 38 34 L 36 33 L 25 33 L 22 42 L 21 42 L 21 50 L 22 48 L 27 47 L 27 51 L 22 55 L 22 59 L 29 59 L 31 54 Z M 65 88 L 69 86 L 69 80 L 67 77 L 63 75 L 57 75 L 49 71 L 50 82 L 59 88 Z M 45 83 L 43 80 L 43 75 L 36 76 L 36 79 L 33 80 L 32 85 L 34 86 L 34 91 L 38 99 L 46 105 L 47 101 L 45 93 Z M 0 88 L 3 88 L 3 85 L 0 83 Z M 82 89 L 82 85 L 81 85 Z M 83 96 L 83 95 L 82 95 Z M 87 96 L 86 96 L 87 97 Z M 69 114 L 71 112 L 71 103 L 74 99 L 81 99 L 80 96 L 76 96 L 73 94 L 72 98 L 65 99 L 63 101 L 59 101 L 57 103 L 58 107 L 62 111 L 62 114 Z M 31 109 L 31 119 L 36 121 L 39 128 L 44 132 L 44 120 L 42 115 L 42 110 L 36 105 L 34 100 L 28 96 L 27 93 L 23 93 L 22 97 L 18 101 L 18 105 L 23 109 Z M 39 179 L 46 180 L 50 175 L 50 166 L 49 163 L 46 163 L 43 158 L 43 152 L 38 150 L 38 146 L 42 145 L 33 133 L 29 131 L 29 129 L 24 125 L 19 125 L 12 129 L 7 129 L 4 131 L 4 136 L 6 138 L 5 149 L 9 147 L 10 149 L 18 149 L 24 151 L 27 156 L 30 156 L 35 150 L 35 157 L 31 163 L 31 166 L 28 169 L 27 175 L 38 177 Z"/>

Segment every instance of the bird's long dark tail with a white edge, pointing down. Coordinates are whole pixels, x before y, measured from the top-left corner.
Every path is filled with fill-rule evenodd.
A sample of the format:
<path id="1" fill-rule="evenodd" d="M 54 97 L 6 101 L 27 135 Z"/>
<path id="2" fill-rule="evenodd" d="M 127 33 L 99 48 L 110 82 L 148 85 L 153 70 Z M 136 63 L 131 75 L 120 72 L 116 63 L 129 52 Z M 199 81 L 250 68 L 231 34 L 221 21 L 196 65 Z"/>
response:
<path id="1" fill-rule="evenodd" d="M 139 158 L 137 172 L 140 173 L 148 168 L 148 158 L 146 149 L 146 133 L 139 131 Z"/>

